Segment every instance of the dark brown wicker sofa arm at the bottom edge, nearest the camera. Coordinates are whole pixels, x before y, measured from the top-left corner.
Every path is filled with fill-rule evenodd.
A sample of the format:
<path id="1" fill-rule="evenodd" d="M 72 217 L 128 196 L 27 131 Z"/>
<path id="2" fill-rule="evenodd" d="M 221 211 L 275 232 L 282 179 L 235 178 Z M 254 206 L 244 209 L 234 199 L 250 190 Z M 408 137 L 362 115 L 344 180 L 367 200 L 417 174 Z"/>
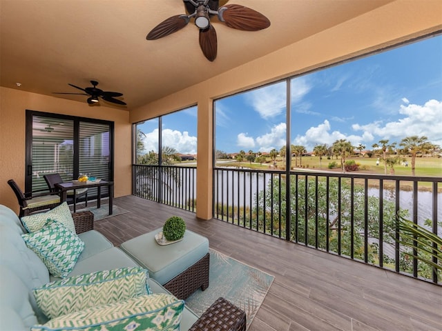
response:
<path id="1" fill-rule="evenodd" d="M 245 331 L 246 313 L 224 298 L 218 298 L 189 331 Z"/>

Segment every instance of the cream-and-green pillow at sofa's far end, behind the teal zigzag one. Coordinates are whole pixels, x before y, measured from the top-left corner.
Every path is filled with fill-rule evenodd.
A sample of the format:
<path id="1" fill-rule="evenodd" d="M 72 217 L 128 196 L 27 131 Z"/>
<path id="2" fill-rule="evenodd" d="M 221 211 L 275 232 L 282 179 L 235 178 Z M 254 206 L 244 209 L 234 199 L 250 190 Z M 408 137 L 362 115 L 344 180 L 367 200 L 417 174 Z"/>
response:
<path id="1" fill-rule="evenodd" d="M 74 220 L 72 214 L 70 214 L 70 209 L 66 201 L 48 212 L 39 212 L 38 214 L 21 217 L 21 223 L 23 223 L 23 226 L 28 232 L 36 232 L 40 230 L 49 220 L 59 221 L 66 228 L 75 233 Z"/>

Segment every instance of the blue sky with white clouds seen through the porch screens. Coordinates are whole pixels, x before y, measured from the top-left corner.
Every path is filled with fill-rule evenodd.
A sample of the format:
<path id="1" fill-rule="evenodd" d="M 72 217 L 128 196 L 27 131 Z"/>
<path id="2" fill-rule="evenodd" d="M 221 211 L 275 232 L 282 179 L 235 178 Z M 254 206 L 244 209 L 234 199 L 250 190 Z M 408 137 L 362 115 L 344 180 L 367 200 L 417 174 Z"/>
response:
<path id="1" fill-rule="evenodd" d="M 442 36 L 291 80 L 291 143 L 312 150 L 347 139 L 371 149 L 425 135 L 442 146 Z M 215 148 L 269 152 L 285 145 L 286 85 L 273 83 L 215 101 Z M 196 108 L 163 117 L 163 144 L 196 152 Z M 157 120 L 146 121 L 156 150 Z M 155 138 L 156 137 L 156 138 Z"/>

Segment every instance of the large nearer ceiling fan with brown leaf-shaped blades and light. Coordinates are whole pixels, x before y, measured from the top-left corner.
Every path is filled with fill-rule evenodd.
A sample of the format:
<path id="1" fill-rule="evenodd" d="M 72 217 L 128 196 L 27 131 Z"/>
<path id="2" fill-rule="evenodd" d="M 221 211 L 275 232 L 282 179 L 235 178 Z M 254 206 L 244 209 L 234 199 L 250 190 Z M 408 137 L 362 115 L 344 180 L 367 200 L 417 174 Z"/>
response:
<path id="1" fill-rule="evenodd" d="M 225 5 L 220 7 L 219 0 L 183 0 L 188 15 L 175 15 L 162 21 L 147 34 L 147 40 L 160 39 L 177 32 L 195 19 L 195 25 L 200 28 L 200 47 L 204 56 L 213 61 L 216 58 L 217 38 L 215 28 L 210 19 L 217 16 L 229 28 L 244 31 L 258 31 L 270 26 L 270 21 L 260 12 L 240 5 Z M 227 2 L 227 1 L 225 1 Z"/>

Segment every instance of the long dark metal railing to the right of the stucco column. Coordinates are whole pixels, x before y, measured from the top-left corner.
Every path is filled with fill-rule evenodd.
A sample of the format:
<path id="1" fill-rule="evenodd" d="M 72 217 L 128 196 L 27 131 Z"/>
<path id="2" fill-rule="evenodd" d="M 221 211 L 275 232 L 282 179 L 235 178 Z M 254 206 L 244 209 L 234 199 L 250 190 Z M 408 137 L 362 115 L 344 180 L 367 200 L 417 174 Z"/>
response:
<path id="1" fill-rule="evenodd" d="M 396 215 L 441 236 L 441 183 L 441 177 L 215 168 L 213 217 L 438 283 L 441 272 L 399 245 Z"/>

